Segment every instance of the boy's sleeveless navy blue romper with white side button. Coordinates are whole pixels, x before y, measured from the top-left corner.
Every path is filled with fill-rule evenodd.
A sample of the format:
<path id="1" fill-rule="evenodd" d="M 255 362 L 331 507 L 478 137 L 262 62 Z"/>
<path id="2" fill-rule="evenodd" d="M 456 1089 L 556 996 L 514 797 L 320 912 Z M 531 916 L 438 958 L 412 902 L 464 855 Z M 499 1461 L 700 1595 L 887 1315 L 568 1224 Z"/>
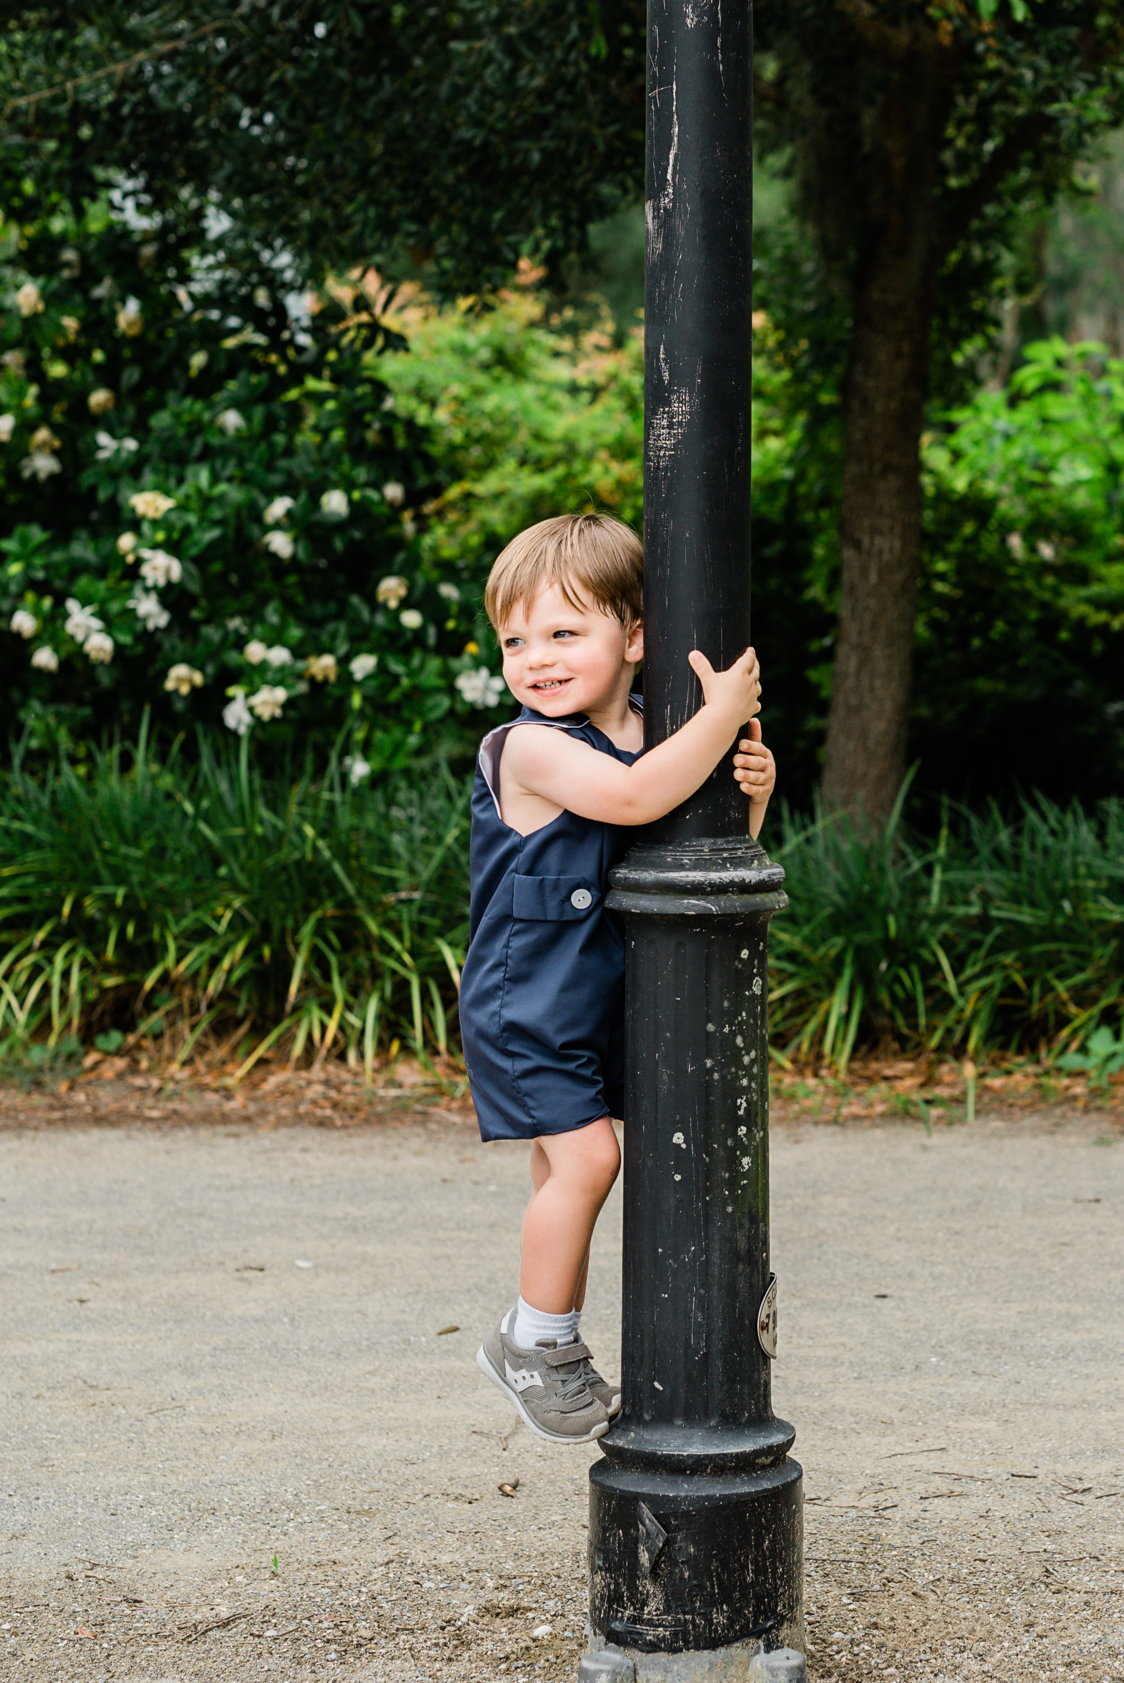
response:
<path id="1" fill-rule="evenodd" d="M 569 811 L 528 836 L 505 825 L 500 756 L 523 725 L 569 730 L 626 766 L 641 752 L 581 714 L 530 707 L 480 744 L 461 1040 L 483 1139 L 565 1134 L 624 1101 L 624 937 L 602 902 L 638 830 Z"/>

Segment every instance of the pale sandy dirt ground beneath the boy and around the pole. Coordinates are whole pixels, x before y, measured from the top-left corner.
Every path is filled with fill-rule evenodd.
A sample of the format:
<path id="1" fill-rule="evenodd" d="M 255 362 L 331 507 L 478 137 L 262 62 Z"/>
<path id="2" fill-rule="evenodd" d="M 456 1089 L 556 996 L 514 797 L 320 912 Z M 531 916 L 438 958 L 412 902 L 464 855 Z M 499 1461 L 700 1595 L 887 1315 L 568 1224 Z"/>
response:
<path id="1" fill-rule="evenodd" d="M 1124 1680 L 1124 1129 L 925 1082 L 776 1106 L 811 1676 Z M 594 1452 L 473 1365 L 525 1187 L 417 1084 L 2 1091 L 0 1675 L 574 1676 Z"/>

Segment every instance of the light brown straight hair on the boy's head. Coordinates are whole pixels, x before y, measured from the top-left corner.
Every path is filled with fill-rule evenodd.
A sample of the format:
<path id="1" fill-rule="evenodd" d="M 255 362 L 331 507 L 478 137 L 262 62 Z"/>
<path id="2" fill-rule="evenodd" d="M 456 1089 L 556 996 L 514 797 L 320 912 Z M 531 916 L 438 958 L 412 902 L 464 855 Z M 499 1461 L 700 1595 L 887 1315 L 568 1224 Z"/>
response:
<path id="1" fill-rule="evenodd" d="M 495 629 L 552 584 L 577 613 L 592 603 L 631 631 L 644 604 L 641 542 L 611 515 L 554 515 L 527 527 L 488 574 L 485 611 Z M 586 601 L 579 599 L 579 591 Z"/>

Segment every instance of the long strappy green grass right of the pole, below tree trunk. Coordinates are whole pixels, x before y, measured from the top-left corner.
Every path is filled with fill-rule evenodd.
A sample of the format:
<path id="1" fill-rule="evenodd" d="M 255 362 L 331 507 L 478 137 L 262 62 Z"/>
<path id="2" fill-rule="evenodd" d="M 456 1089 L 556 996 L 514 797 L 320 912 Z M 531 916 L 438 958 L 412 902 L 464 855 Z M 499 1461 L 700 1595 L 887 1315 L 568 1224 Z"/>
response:
<path id="1" fill-rule="evenodd" d="M 772 857 L 772 1038 L 845 1070 L 858 1045 L 1065 1050 L 1124 1006 L 1124 806 L 1026 801 L 902 825 L 789 818 Z"/>

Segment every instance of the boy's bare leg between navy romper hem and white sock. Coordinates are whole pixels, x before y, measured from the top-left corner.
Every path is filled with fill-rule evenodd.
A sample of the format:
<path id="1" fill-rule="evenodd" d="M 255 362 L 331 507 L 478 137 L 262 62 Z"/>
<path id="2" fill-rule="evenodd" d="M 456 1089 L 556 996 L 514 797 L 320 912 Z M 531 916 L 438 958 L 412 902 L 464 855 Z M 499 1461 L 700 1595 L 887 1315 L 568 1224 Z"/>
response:
<path id="1" fill-rule="evenodd" d="M 533 1192 L 523 1217 L 520 1294 L 545 1314 L 586 1298 L 589 1240 L 621 1168 L 607 1116 L 567 1134 L 542 1134 L 530 1156 Z M 579 1301 L 581 1294 L 581 1301 Z"/>

